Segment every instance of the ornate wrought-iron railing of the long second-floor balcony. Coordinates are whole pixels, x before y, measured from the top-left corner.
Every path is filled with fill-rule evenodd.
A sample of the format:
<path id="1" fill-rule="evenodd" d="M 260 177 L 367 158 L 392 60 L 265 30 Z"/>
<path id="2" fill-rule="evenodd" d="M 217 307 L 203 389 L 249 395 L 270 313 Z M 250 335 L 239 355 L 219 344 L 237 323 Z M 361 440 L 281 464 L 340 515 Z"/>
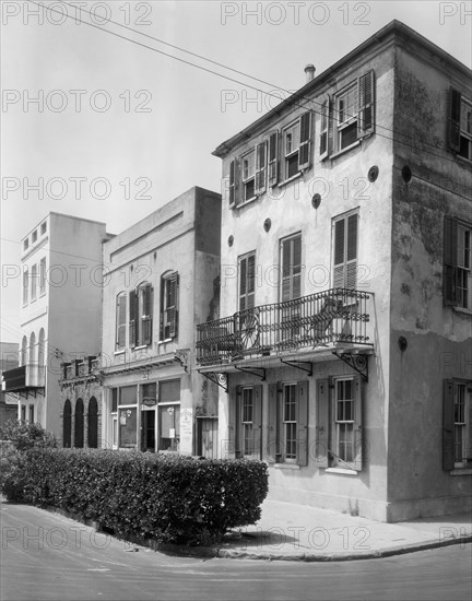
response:
<path id="1" fill-rule="evenodd" d="M 373 294 L 332 288 L 197 326 L 197 363 L 215 365 L 328 344 L 373 346 Z"/>

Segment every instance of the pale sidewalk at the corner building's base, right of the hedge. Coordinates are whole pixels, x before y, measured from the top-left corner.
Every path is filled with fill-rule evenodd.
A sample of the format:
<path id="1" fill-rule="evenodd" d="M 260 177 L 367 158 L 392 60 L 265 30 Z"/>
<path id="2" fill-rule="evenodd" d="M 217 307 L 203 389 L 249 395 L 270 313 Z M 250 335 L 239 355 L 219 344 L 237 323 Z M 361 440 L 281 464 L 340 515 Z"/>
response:
<path id="1" fill-rule="evenodd" d="M 385 557 L 467 542 L 472 542 L 469 512 L 382 523 L 266 500 L 258 523 L 228 534 L 219 549 L 211 551 L 217 557 L 326 562 Z"/>

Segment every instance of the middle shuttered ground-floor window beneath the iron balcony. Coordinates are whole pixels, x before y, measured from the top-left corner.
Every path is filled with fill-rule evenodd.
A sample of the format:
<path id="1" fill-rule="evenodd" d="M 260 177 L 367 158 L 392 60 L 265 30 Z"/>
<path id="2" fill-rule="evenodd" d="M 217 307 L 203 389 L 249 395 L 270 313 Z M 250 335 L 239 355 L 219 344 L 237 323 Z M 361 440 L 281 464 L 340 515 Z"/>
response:
<path id="1" fill-rule="evenodd" d="M 269 386 L 268 460 L 308 464 L 308 382 Z"/>

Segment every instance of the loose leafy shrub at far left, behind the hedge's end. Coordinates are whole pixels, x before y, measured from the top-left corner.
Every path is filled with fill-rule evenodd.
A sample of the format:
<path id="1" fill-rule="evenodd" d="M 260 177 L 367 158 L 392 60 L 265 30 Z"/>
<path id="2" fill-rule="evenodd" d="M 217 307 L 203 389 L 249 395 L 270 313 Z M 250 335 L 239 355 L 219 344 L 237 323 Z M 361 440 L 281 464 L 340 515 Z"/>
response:
<path id="1" fill-rule="evenodd" d="M 9 500 L 23 500 L 25 451 L 31 448 L 55 448 L 55 436 L 40 424 L 9 420 L 0 427 L 0 491 Z"/>

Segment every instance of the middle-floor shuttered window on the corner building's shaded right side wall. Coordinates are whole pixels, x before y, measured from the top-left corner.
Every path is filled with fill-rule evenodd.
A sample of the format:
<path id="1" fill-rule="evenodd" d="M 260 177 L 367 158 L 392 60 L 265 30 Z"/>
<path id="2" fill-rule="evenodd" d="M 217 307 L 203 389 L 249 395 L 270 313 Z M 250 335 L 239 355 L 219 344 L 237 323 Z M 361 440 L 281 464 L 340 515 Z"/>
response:
<path id="1" fill-rule="evenodd" d="M 472 309 L 472 225 L 446 216 L 444 227 L 445 305 Z"/>

